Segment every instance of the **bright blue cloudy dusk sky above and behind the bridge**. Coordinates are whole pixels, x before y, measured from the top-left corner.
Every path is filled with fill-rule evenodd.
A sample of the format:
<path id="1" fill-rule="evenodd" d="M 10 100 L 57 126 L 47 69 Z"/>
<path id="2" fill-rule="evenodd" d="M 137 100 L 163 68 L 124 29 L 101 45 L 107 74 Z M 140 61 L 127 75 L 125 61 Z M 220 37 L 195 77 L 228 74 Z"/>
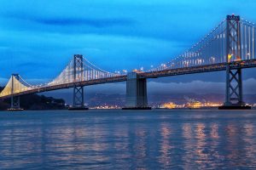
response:
<path id="1" fill-rule="evenodd" d="M 256 21 L 253 0 L 0 2 L 2 86 L 11 73 L 19 73 L 30 82 L 47 82 L 61 72 L 73 54 L 84 54 L 107 71 L 149 68 L 181 54 L 224 20 L 226 14 L 240 14 L 241 18 Z M 256 84 L 253 71 L 244 76 L 251 86 Z M 220 75 L 221 78 L 209 78 Z M 170 77 L 160 80 L 170 82 Z M 224 73 L 172 80 L 224 82 Z"/>

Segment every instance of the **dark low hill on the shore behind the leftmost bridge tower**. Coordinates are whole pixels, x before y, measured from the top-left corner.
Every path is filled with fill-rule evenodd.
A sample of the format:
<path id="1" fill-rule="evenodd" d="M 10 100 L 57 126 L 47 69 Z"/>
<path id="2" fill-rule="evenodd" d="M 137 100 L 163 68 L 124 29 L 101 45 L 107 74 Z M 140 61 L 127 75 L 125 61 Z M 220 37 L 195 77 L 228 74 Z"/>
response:
<path id="1" fill-rule="evenodd" d="M 0 88 L 2 91 L 3 88 Z M 4 111 L 10 107 L 10 99 L 0 100 L 0 110 Z M 55 99 L 44 95 L 30 94 L 20 97 L 20 108 L 25 110 L 64 110 L 64 99 Z"/>

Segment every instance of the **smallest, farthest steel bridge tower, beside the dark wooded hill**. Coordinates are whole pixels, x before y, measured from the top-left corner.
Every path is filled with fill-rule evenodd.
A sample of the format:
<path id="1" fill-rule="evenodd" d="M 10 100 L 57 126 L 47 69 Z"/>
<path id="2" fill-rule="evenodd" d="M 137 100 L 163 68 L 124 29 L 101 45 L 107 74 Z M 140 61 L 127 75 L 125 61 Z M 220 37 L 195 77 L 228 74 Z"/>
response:
<path id="1" fill-rule="evenodd" d="M 20 96 L 14 96 L 15 94 L 15 79 L 17 81 L 19 81 L 20 76 L 19 74 L 12 74 L 11 77 L 11 107 L 9 109 L 9 111 L 21 111 L 22 109 L 20 109 Z"/>

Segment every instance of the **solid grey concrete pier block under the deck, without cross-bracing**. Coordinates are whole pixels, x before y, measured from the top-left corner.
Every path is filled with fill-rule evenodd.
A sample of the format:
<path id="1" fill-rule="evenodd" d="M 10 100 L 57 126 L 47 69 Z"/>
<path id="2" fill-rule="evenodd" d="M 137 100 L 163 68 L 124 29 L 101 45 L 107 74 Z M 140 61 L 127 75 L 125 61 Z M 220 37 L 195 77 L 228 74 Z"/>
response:
<path id="1" fill-rule="evenodd" d="M 147 79 L 139 78 L 137 72 L 127 74 L 126 105 L 123 110 L 150 110 L 147 97 Z"/>

